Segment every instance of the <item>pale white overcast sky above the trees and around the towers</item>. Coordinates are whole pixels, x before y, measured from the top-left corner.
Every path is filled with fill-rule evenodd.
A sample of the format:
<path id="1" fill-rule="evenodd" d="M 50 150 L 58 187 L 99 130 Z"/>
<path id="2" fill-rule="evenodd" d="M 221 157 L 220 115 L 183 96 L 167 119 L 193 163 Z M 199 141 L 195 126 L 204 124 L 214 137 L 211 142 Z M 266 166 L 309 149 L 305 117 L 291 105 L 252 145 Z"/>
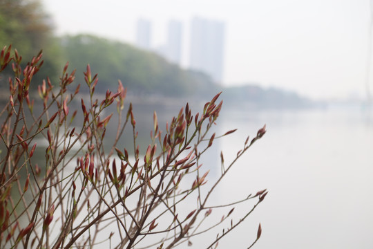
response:
<path id="1" fill-rule="evenodd" d="M 135 44 L 137 19 L 153 46 L 171 19 L 184 24 L 187 68 L 193 17 L 224 21 L 223 84 L 256 83 L 315 99 L 361 98 L 373 89 L 370 0 L 42 0 L 57 35 L 90 33 Z M 373 64 L 372 64 L 373 65 Z"/>

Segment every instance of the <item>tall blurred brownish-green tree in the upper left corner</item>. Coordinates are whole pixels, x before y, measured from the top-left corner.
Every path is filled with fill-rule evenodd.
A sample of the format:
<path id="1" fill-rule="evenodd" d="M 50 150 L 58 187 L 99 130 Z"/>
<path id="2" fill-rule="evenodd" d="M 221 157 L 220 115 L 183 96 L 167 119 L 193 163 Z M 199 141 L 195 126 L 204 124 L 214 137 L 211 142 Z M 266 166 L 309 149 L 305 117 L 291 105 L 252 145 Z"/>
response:
<path id="1" fill-rule="evenodd" d="M 41 75 L 57 80 L 57 68 L 61 68 L 59 46 L 52 34 L 52 20 L 39 0 L 0 0 L 0 46 L 10 44 L 23 55 L 23 62 L 43 49 Z M 41 82 L 41 78 L 35 76 L 35 81 Z"/>

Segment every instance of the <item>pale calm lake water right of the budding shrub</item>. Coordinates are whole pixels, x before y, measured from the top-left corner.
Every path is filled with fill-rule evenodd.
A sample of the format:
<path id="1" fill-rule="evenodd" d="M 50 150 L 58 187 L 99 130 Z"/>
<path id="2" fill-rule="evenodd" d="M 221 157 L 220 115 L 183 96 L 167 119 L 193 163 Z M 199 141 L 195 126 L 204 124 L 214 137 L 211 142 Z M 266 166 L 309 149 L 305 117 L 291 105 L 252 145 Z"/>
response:
<path id="1" fill-rule="evenodd" d="M 220 192 L 229 199 L 265 188 L 269 194 L 221 248 L 247 248 L 259 222 L 263 232 L 255 248 L 373 248 L 373 120 L 367 113 L 358 107 L 225 110 L 221 133 L 238 131 L 219 149 L 236 154 L 263 124 L 267 133 L 240 158 Z"/>

